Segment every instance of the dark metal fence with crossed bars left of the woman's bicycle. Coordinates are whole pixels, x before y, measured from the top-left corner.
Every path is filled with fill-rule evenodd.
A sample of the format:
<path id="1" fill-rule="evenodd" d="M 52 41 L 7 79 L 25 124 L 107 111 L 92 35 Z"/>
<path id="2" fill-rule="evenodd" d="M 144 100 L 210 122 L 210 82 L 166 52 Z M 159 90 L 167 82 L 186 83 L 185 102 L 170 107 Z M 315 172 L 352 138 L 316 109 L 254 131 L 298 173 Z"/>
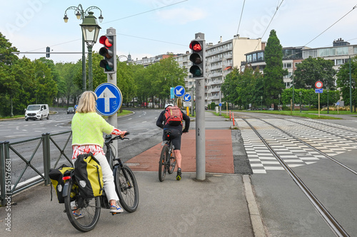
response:
<path id="1" fill-rule="evenodd" d="M 72 132 L 67 131 L 52 135 L 45 133 L 41 137 L 20 142 L 0 142 L 1 206 L 5 205 L 6 197 L 9 199 L 9 196 L 42 181 L 45 185 L 50 184 L 49 169 L 59 167 L 60 161 L 72 165 L 71 136 Z M 23 169 L 19 169 L 21 166 Z M 20 183 L 21 180 L 26 181 Z"/>

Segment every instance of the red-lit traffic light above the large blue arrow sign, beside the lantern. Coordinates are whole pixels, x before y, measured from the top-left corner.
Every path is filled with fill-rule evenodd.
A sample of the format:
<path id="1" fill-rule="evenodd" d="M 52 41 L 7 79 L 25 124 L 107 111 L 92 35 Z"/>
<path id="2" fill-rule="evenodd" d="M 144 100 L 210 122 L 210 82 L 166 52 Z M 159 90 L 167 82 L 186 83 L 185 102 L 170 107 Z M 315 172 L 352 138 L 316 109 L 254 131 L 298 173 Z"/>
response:
<path id="1" fill-rule="evenodd" d="M 103 44 L 104 47 L 99 49 L 99 54 L 104 56 L 101 60 L 100 66 L 104 68 L 104 73 L 115 73 L 116 72 L 116 46 L 114 42 L 114 36 L 106 34 L 99 38 L 99 43 Z"/>

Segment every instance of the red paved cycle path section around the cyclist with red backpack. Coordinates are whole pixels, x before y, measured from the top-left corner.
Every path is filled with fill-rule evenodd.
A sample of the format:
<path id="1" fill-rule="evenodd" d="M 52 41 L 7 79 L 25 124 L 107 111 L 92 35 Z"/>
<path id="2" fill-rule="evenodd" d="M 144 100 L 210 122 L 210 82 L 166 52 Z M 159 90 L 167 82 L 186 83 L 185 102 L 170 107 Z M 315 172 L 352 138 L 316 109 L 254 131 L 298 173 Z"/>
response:
<path id="1" fill-rule="evenodd" d="M 159 170 L 161 143 L 129 159 L 126 164 L 136 171 Z M 190 130 L 181 142 L 182 171 L 196 172 L 196 134 Z M 234 174 L 231 130 L 206 130 L 206 172 Z"/>

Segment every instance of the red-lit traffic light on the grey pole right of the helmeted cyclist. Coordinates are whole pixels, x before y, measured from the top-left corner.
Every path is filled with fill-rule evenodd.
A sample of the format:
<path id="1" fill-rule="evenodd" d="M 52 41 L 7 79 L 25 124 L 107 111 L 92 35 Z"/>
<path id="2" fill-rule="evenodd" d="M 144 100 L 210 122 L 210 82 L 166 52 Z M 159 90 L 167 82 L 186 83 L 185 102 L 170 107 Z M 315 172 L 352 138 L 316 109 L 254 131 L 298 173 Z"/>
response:
<path id="1" fill-rule="evenodd" d="M 197 39 L 190 43 L 192 62 L 190 73 L 193 78 L 206 77 L 206 48 L 203 40 Z"/>

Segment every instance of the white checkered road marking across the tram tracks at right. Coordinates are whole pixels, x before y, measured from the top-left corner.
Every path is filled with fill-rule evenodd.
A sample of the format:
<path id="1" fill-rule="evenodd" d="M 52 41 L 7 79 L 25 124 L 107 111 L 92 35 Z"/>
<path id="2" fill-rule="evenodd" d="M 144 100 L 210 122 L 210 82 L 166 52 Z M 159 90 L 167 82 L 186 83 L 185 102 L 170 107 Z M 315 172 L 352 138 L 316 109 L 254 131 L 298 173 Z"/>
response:
<path id="1" fill-rule="evenodd" d="M 256 133 L 251 130 L 251 127 L 249 127 L 244 120 L 238 119 L 236 121 L 241 130 L 244 147 L 253 173 L 266 174 L 266 172 L 270 170 L 283 170 L 281 164 L 273 157 L 273 154 L 271 154 L 261 139 L 258 138 Z M 328 154 L 330 157 L 351 151 L 351 149 L 357 149 L 357 130 L 351 129 L 351 127 L 333 125 L 328 122 L 311 122 L 308 120 L 295 119 L 263 120 L 266 122 L 249 119 L 247 121 L 266 139 L 266 142 L 271 145 L 289 167 L 313 164 L 325 157 L 306 146 L 306 144 L 268 125 L 266 122 L 303 140 L 303 142 L 310 144 L 321 152 Z"/>

